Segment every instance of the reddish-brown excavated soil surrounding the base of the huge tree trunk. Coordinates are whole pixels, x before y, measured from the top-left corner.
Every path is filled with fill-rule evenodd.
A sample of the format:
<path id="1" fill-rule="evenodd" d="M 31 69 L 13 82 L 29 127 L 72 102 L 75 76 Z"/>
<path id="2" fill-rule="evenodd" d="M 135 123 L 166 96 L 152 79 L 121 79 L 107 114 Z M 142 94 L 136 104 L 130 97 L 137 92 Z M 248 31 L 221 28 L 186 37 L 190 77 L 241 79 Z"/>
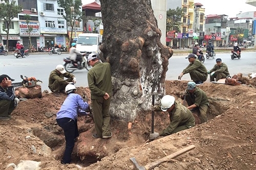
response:
<path id="1" fill-rule="evenodd" d="M 166 94 L 175 95 L 176 100 L 183 103 L 179 94 L 186 85 L 187 81 L 166 81 Z M 190 144 L 196 148 L 155 169 L 256 169 L 255 88 L 212 83 L 199 87 L 206 92 L 210 102 L 207 123 L 144 143 L 151 131 L 151 112 L 140 113 L 131 129 L 127 123 L 112 120 L 112 138 L 89 141 L 92 145 L 93 142 L 104 142 L 108 156 L 101 161 L 77 155 L 76 146 L 81 145 L 82 139 L 89 140 L 89 132 L 93 129 L 90 117 L 78 117 L 80 137 L 74 148 L 73 162 L 69 165 L 59 163 L 65 139 L 55 120 L 66 96 L 62 94 L 56 98 L 43 92 L 40 99 L 20 102 L 11 120 L 0 121 L 0 169 L 20 160 L 41 161 L 42 169 L 51 170 L 133 169 L 131 157 L 135 157 L 140 165 L 146 165 Z M 82 91 L 89 95 L 88 88 L 80 87 L 78 92 L 82 94 Z M 166 113 L 155 113 L 156 132 L 168 124 Z"/>

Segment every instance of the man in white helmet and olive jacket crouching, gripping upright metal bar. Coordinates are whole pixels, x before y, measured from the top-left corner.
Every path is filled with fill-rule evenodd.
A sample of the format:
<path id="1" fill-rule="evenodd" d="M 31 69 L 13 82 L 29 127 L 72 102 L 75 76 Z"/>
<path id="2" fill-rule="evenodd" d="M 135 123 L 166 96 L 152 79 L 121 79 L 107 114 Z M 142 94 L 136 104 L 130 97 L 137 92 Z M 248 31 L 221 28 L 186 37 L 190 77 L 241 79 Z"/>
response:
<path id="1" fill-rule="evenodd" d="M 189 109 L 180 103 L 175 102 L 172 95 L 165 95 L 161 99 L 161 106 L 152 106 L 153 111 L 167 111 L 169 113 L 170 124 L 161 133 L 150 134 L 151 139 L 158 136 L 167 136 L 195 126 L 195 117 Z"/>

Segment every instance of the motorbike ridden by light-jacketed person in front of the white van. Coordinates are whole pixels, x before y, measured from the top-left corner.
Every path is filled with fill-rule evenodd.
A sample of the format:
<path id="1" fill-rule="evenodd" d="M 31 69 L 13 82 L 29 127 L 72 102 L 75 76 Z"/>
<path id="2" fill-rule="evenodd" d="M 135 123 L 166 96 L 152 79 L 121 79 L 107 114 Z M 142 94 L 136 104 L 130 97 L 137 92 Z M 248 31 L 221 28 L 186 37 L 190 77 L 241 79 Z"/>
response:
<path id="1" fill-rule="evenodd" d="M 86 68 L 87 70 L 91 69 L 92 66 L 88 65 L 88 56 L 82 56 L 82 63 L 79 65 L 77 61 L 71 60 L 69 57 L 63 58 L 63 66 L 65 67 L 66 71 L 73 72 L 74 70 L 80 70 Z"/>

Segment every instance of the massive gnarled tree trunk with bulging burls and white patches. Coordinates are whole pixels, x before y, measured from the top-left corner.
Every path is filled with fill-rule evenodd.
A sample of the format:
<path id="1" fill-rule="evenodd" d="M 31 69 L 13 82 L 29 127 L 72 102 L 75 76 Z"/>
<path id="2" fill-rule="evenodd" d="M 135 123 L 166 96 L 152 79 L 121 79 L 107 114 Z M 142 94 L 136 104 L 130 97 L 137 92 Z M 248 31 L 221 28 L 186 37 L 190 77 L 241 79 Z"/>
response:
<path id="1" fill-rule="evenodd" d="M 132 122 L 148 110 L 151 95 L 164 95 L 168 59 L 173 51 L 161 44 L 161 31 L 150 0 L 101 0 L 102 61 L 111 63 L 114 96 L 111 115 Z M 163 33 L 165 34 L 165 33 Z"/>

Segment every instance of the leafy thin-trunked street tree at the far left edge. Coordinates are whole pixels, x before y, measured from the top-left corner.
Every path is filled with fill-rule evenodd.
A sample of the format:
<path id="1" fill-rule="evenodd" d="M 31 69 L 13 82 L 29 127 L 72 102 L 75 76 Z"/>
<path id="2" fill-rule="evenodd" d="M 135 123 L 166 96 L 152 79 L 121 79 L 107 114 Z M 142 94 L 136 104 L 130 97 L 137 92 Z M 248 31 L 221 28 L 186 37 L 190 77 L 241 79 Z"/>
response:
<path id="1" fill-rule="evenodd" d="M 6 49 L 9 49 L 9 30 L 12 19 L 18 17 L 18 13 L 22 12 L 23 7 L 17 5 L 15 0 L 1 0 L 0 3 L 0 18 L 4 19 L 3 31 L 7 33 L 6 36 Z"/>

